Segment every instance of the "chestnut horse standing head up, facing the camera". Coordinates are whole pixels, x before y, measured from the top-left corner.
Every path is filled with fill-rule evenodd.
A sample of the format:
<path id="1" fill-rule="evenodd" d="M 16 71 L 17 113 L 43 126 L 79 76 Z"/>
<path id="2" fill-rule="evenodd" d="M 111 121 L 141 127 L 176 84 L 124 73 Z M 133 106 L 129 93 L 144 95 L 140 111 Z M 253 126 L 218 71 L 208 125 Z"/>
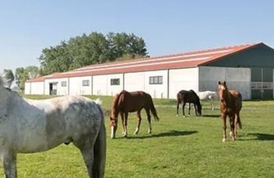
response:
<path id="1" fill-rule="evenodd" d="M 236 90 L 228 90 L 226 82 L 220 82 L 218 86 L 218 93 L 220 98 L 221 117 L 223 119 L 223 142 L 226 141 L 226 118 L 229 117 L 230 136 L 232 140 L 237 136 L 237 124 L 242 129 L 240 111 L 242 109 L 242 95 Z"/>

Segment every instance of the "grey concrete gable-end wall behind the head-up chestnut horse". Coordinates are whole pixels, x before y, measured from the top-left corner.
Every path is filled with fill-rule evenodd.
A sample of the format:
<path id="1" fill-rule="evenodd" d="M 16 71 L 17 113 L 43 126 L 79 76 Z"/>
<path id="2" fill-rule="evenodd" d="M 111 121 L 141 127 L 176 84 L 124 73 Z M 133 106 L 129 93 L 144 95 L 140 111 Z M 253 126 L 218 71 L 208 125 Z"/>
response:
<path id="1" fill-rule="evenodd" d="M 229 90 L 238 90 L 243 99 L 251 99 L 250 68 L 199 67 L 199 91 L 217 91 L 218 81 L 224 80 Z"/>

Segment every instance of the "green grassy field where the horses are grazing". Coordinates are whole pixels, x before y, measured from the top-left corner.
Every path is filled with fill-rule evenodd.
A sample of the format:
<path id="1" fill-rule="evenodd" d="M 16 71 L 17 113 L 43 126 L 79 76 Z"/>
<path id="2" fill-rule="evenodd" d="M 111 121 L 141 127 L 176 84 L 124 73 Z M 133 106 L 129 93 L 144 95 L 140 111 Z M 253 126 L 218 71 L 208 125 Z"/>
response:
<path id="1" fill-rule="evenodd" d="M 32 99 L 45 96 L 26 96 Z M 95 98 L 95 97 L 91 97 Z M 109 113 L 111 97 L 101 97 Z M 238 140 L 222 143 L 220 111 L 203 103 L 202 117 L 176 117 L 174 100 L 154 100 L 159 122 L 148 135 L 143 120 L 133 135 L 136 114 L 130 114 L 129 138 L 110 139 L 108 116 L 106 178 L 271 178 L 274 175 L 274 101 L 245 101 Z M 181 110 L 180 110 L 181 114 Z M 120 121 L 120 120 L 119 120 Z M 229 129 L 228 129 L 229 134 Z M 79 151 L 70 144 L 51 151 L 18 155 L 19 178 L 86 178 Z M 0 172 L 3 177 L 3 173 Z"/>

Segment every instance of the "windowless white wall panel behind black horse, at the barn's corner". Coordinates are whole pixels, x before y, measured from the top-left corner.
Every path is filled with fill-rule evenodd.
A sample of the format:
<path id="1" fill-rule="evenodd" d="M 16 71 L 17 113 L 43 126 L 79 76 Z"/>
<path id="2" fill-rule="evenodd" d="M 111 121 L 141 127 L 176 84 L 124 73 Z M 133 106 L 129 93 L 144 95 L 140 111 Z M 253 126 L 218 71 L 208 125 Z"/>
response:
<path id="1" fill-rule="evenodd" d="M 199 72 L 198 67 L 169 70 L 169 98 L 176 99 L 180 90 L 197 92 Z"/>

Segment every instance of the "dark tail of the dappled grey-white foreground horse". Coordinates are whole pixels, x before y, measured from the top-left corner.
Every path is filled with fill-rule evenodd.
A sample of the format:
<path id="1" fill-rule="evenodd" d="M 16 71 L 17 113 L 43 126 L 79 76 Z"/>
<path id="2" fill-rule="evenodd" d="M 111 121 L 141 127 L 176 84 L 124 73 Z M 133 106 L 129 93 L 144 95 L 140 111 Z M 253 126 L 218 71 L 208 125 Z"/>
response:
<path id="1" fill-rule="evenodd" d="M 95 101 L 101 113 L 101 126 L 94 145 L 93 178 L 104 178 L 106 164 L 106 127 L 101 101 Z"/>

